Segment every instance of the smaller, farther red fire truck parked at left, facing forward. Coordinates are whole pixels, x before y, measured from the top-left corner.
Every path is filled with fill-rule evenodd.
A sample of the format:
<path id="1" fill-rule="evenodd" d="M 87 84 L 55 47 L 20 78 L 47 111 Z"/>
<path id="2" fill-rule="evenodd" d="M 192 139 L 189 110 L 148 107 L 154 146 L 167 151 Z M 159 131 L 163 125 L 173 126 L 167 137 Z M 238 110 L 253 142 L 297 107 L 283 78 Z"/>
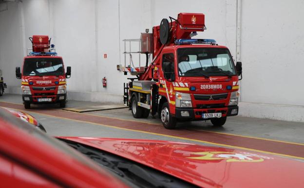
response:
<path id="1" fill-rule="evenodd" d="M 71 77 L 71 67 L 64 71 L 62 58 L 54 52 L 48 36 L 34 35 L 29 38 L 33 52 L 24 57 L 22 73 L 16 67 L 16 77 L 22 79 L 22 100 L 24 108 L 31 104 L 59 103 L 65 107 L 67 100 L 66 78 Z"/>

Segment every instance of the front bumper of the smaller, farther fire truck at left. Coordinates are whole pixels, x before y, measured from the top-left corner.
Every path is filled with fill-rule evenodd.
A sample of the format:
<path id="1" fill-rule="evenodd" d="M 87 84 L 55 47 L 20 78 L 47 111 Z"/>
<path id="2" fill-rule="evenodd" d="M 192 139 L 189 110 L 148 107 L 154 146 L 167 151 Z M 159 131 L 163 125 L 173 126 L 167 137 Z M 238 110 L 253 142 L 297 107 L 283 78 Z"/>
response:
<path id="1" fill-rule="evenodd" d="M 29 100 L 25 100 L 29 98 Z M 51 102 L 38 102 L 38 99 L 42 98 L 51 98 Z M 59 99 L 60 98 L 60 99 Z M 47 96 L 33 96 L 33 95 L 22 95 L 22 101 L 28 102 L 31 104 L 50 104 L 50 103 L 59 103 L 61 101 L 66 101 L 67 94 L 59 94 L 59 95 L 47 95 Z"/>

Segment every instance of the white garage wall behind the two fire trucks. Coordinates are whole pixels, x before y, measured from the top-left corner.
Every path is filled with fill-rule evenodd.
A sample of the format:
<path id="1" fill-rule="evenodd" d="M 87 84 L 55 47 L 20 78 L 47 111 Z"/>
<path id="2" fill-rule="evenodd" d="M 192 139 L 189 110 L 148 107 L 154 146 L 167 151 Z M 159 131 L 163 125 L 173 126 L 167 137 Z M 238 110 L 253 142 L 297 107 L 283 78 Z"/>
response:
<path id="1" fill-rule="evenodd" d="M 240 115 L 304 122 L 304 1 L 239 2 L 244 72 Z M 0 12 L 0 68 L 7 91 L 20 92 L 15 66 L 31 48 L 27 38 L 49 35 L 66 66 L 72 66 L 70 99 L 122 102 L 122 84 L 130 77 L 115 68 L 124 63 L 122 40 L 138 39 L 145 28 L 179 12 L 204 13 L 208 29 L 197 38 L 228 46 L 236 60 L 237 0 L 9 2 L 8 10 Z M 102 87 L 103 77 L 107 88 Z"/>

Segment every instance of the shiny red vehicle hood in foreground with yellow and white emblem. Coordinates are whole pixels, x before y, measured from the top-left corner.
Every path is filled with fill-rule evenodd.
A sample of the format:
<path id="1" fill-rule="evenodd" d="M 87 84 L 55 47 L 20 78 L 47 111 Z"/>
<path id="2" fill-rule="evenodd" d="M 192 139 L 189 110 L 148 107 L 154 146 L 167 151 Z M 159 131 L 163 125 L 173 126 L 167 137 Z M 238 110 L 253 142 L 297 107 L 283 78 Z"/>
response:
<path id="1" fill-rule="evenodd" d="M 302 188 L 304 163 L 272 155 L 167 141 L 58 137 L 161 170 L 203 188 Z"/>

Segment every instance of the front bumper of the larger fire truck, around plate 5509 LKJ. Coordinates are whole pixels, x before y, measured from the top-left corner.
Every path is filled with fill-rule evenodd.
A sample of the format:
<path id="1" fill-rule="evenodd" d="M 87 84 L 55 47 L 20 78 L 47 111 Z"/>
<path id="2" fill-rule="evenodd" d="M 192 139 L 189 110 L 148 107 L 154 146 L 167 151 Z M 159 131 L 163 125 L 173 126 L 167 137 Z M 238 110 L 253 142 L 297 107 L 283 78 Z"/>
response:
<path id="1" fill-rule="evenodd" d="M 235 114 L 231 114 L 231 111 L 236 109 Z M 181 112 L 188 111 L 189 116 L 182 116 Z M 234 110 L 235 111 L 235 110 Z M 210 109 L 197 109 L 197 108 L 175 108 L 175 117 L 177 119 L 190 119 L 190 120 L 207 120 L 202 118 L 203 113 L 222 113 L 222 117 L 236 116 L 239 113 L 239 106 L 228 106 L 223 108 L 210 108 Z"/>

